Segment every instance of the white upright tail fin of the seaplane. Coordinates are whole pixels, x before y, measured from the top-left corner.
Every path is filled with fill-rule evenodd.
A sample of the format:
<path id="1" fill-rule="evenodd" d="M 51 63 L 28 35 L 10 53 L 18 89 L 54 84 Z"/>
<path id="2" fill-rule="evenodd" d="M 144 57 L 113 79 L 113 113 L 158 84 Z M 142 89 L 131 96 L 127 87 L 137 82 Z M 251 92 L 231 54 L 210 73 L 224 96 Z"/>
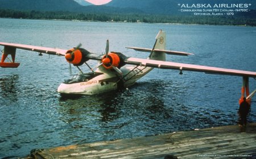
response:
<path id="1" fill-rule="evenodd" d="M 166 50 L 166 32 L 160 30 L 155 37 L 155 45 L 150 53 L 149 58 L 152 60 L 166 61 L 166 54 L 164 52 L 155 52 L 154 49 Z"/>

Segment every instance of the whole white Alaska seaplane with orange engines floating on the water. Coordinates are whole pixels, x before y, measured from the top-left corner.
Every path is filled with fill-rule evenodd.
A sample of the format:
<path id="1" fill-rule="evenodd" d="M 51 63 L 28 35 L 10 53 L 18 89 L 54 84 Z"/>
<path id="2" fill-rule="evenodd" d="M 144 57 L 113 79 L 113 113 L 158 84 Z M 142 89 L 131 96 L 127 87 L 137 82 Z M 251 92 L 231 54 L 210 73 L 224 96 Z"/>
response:
<path id="1" fill-rule="evenodd" d="M 2 68 L 18 68 L 19 63 L 15 62 L 16 49 L 38 52 L 39 55 L 46 53 L 48 55 L 64 56 L 69 65 L 73 64 L 79 69 L 79 73 L 69 80 L 64 80 L 60 84 L 57 91 L 61 95 L 95 95 L 120 88 L 127 88 L 134 85 L 136 81 L 154 68 L 174 69 L 178 70 L 179 74 L 183 74 L 183 71 L 193 71 L 241 76 L 242 96 L 240 102 L 242 102 L 243 97 L 246 97 L 247 102 L 250 102 L 251 97 L 253 97 L 256 91 L 254 90 L 253 93 L 249 94 L 249 78 L 256 78 L 256 72 L 166 61 L 166 54 L 177 56 L 189 56 L 193 54 L 166 50 L 166 32 L 162 30 L 156 35 L 152 48 L 126 47 L 135 51 L 148 52 L 150 55 L 147 59 L 127 57 L 121 52 L 109 52 L 109 40 L 106 41 L 105 55 L 89 52 L 81 48 L 81 44 L 71 49 L 4 42 L 0 42 L 0 45 L 4 47 L 0 62 Z M 11 56 L 11 59 L 7 57 L 8 55 Z M 10 62 L 5 62 L 6 58 Z M 88 65 L 88 60 L 97 60 L 98 65 L 93 69 Z M 82 72 L 81 65 L 88 66 L 91 72 Z"/>

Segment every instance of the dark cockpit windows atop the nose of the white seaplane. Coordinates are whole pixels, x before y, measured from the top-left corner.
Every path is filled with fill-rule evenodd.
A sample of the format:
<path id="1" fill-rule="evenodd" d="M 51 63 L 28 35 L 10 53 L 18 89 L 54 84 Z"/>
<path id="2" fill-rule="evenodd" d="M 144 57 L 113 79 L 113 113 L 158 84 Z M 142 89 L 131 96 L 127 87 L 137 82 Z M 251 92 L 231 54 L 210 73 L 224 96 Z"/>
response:
<path id="1" fill-rule="evenodd" d="M 65 80 L 65 84 L 72 84 L 72 83 L 79 83 L 79 82 L 86 82 L 92 80 L 92 78 L 97 77 L 103 73 L 99 72 L 89 72 L 89 73 L 79 73 L 74 75 L 71 79 Z"/>

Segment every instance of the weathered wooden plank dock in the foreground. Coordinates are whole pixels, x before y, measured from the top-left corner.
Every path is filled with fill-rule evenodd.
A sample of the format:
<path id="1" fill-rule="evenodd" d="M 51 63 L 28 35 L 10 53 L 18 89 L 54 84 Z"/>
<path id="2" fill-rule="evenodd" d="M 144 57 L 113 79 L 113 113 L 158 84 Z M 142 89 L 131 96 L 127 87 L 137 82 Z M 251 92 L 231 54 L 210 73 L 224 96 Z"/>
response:
<path id="1" fill-rule="evenodd" d="M 35 149 L 25 158 L 256 158 L 256 123 Z"/>

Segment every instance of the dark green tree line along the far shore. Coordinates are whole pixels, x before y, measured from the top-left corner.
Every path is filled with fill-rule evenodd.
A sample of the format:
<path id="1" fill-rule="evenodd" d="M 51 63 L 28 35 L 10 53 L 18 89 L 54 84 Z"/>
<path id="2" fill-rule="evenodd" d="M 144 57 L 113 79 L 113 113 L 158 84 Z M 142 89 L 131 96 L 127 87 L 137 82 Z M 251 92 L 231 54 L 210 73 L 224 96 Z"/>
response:
<path id="1" fill-rule="evenodd" d="M 152 14 L 93 14 L 69 11 L 0 10 L 1 18 L 85 20 L 97 22 L 143 22 L 256 26 L 256 18 L 243 16 L 191 16 Z"/>

